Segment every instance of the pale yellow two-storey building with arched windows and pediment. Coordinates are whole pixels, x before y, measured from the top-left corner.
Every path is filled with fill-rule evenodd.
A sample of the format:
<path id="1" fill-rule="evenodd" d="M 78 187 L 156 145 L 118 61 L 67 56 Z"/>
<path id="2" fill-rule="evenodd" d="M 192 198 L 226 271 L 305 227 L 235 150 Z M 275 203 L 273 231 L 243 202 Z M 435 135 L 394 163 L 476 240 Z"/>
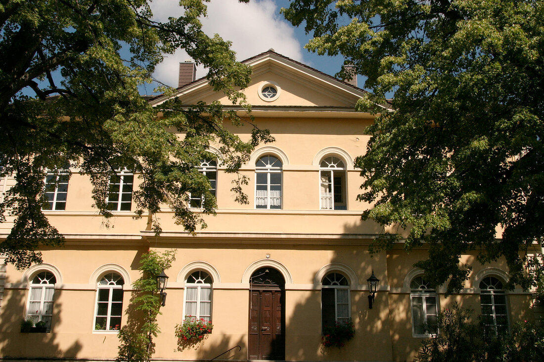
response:
<path id="1" fill-rule="evenodd" d="M 119 198 L 109 200 L 118 211 L 105 228 L 91 207 L 88 178 L 71 170 L 69 181 L 48 189 L 51 210 L 44 211 L 65 235 L 65 247 L 42 250 L 44 264 L 24 272 L 9 265 L 1 271 L 3 359 L 114 359 L 138 261 L 149 249 L 177 249 L 158 317 L 159 361 L 211 360 L 236 346 L 219 359 L 401 361 L 428 337 L 423 323 L 432 325 L 436 311 L 454 301 L 483 311 L 496 328 L 533 318 L 530 293 L 503 289 L 504 261 L 482 266 L 475 255 L 463 255 L 473 273 L 461 294 L 446 298 L 412 266 L 424 258 L 423 248 L 407 255 L 399 246 L 371 257 L 368 245 L 382 228 L 361 221 L 369 205 L 356 201 L 361 179 L 353 163 L 366 151 L 363 131 L 373 122 L 354 110 L 364 91 L 272 50 L 245 64 L 253 69 L 245 93 L 256 122 L 276 139 L 257 147 L 240 171 L 251 179 L 244 190 L 250 203 L 233 201 L 232 176 L 212 149 L 217 159 L 201 164 L 218 203 L 207 229 L 190 235 L 166 210 L 159 215 L 164 232 L 154 236 L 145 219 L 132 219 L 130 196 L 139 180 L 129 170 L 120 171 Z M 192 64 L 181 67 L 183 102 L 229 104 L 205 79 L 194 80 Z M 247 128 L 233 132 L 248 138 Z M 9 179 L 2 182 L 9 187 Z M 198 212 L 200 200 L 192 202 Z M 5 237 L 9 223 L 0 227 Z M 370 309 L 372 273 L 380 283 Z M 180 351 L 174 328 L 186 315 L 212 320 L 214 329 Z M 49 333 L 22 333 L 26 316 L 45 321 Z M 354 338 L 324 348 L 325 324 L 349 319 Z"/>

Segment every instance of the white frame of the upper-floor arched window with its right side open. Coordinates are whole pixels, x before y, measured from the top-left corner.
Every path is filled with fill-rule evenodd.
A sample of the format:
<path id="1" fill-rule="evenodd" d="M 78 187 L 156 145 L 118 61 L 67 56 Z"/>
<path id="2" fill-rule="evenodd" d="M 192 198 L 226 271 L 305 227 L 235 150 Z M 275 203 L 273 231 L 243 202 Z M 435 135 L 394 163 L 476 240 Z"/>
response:
<path id="1" fill-rule="evenodd" d="M 324 164 L 326 166 L 324 166 Z M 341 165 L 341 166 L 339 166 Z M 330 182 L 323 182 L 323 173 L 330 172 L 331 180 Z M 342 202 L 335 202 L 335 174 L 337 177 L 342 178 L 342 184 L 340 185 L 342 191 Z M 319 208 L 321 210 L 347 210 L 348 209 L 348 198 L 347 198 L 347 183 L 348 183 L 348 174 L 346 172 L 345 162 L 339 157 L 336 156 L 327 156 L 324 157 L 319 163 Z M 332 192 L 324 192 L 323 185 L 330 185 L 330 190 Z"/>

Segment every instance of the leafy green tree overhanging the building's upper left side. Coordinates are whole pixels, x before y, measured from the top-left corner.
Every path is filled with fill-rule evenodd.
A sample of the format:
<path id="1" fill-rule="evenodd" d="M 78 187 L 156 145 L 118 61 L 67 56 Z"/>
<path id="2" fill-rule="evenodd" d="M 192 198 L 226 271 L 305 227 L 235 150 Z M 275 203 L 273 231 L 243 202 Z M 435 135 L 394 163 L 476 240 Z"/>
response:
<path id="1" fill-rule="evenodd" d="M 214 90 L 249 109 L 239 89 L 251 70 L 235 61 L 229 42 L 202 32 L 206 1 L 181 0 L 184 15 L 168 22 L 154 21 L 146 0 L 0 2 L 0 177 L 16 180 L 0 200 L 0 222 L 6 215 L 15 218 L 0 244 L 8 263 L 19 269 L 39 263 L 40 245 L 63 242 L 41 209 L 46 171 L 67 162 L 89 174 L 95 206 L 106 217 L 109 180 L 116 168 L 127 167 L 141 178 L 133 194 L 135 214 L 150 215 L 156 232 L 155 215 L 164 204 L 185 229 L 205 226 L 188 201 L 190 192 L 203 195 L 203 211 L 213 213 L 208 180 L 195 168 L 215 157 L 208 145 L 220 148 L 227 172 L 236 172 L 269 135 L 255 128 L 249 141 L 240 140 L 223 122 L 243 121 L 216 103 L 180 107 L 171 101 L 163 105 L 168 117 L 157 117 L 160 109 L 150 107 L 138 85 L 151 82 L 163 54 L 183 48 L 208 68 Z M 36 97 L 23 95 L 25 89 Z"/>

